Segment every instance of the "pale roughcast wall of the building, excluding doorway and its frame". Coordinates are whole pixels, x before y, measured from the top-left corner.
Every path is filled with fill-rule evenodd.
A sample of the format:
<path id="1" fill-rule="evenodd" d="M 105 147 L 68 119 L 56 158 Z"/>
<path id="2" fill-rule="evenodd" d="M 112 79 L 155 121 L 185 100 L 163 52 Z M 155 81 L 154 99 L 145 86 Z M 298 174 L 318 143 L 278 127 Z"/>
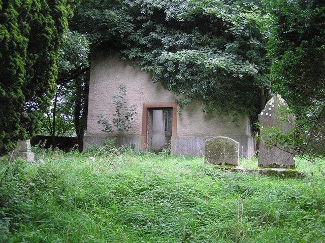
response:
<path id="1" fill-rule="evenodd" d="M 134 117 L 133 128 L 123 134 L 125 143 L 140 148 L 142 128 L 142 106 L 148 102 L 174 102 L 174 93 L 165 90 L 160 83 L 152 83 L 151 75 L 134 68 L 127 61 L 121 61 L 118 55 L 106 55 L 98 52 L 92 56 L 89 86 L 89 105 L 87 134 L 84 147 L 89 144 L 102 144 L 104 139 L 114 134 L 105 133 L 98 124 L 98 115 L 108 121 L 113 120 L 113 96 L 118 87 L 126 86 L 126 101 L 129 106 L 136 104 L 138 114 Z M 254 151 L 253 138 L 250 135 L 249 120 L 239 116 L 233 122 L 233 116 L 206 114 L 203 106 L 194 102 L 182 110 L 177 118 L 177 135 L 172 137 L 173 154 L 204 155 L 205 140 L 214 136 L 227 136 L 240 143 L 240 156 L 251 157 Z M 112 122 L 111 122 L 112 123 Z"/>

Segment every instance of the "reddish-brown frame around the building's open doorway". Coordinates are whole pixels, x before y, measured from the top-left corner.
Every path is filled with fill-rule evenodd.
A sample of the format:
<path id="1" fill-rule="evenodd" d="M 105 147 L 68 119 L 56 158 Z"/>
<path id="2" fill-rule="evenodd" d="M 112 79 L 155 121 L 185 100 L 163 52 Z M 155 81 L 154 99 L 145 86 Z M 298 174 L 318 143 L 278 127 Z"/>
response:
<path id="1" fill-rule="evenodd" d="M 162 110 L 172 109 L 173 125 L 172 138 L 176 137 L 177 131 L 177 103 L 176 102 L 157 102 L 157 103 L 143 103 L 142 106 L 142 129 L 141 129 L 141 145 L 142 151 L 147 151 L 147 134 L 148 134 L 148 110 Z M 171 143 L 171 151 L 174 151 L 174 143 Z"/>

